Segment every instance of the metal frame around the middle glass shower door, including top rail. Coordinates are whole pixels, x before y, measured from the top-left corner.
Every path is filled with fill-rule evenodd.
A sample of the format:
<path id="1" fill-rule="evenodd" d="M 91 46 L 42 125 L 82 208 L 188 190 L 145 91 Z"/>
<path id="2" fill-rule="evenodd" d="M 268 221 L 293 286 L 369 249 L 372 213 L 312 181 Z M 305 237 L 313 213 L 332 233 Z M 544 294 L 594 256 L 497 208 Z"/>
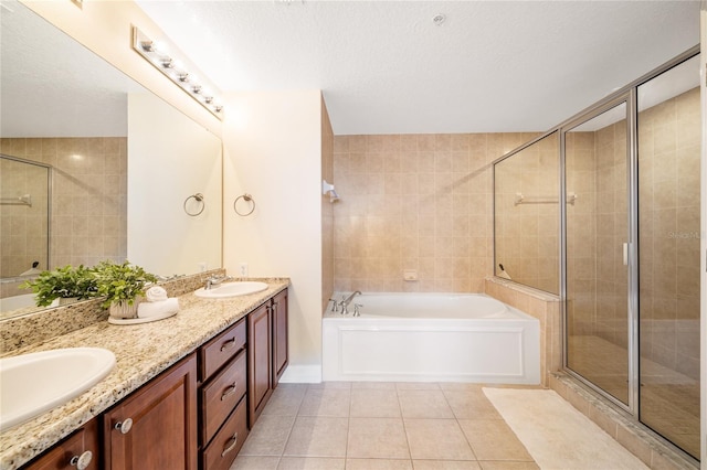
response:
<path id="1" fill-rule="evenodd" d="M 567 206 L 560 204 L 560 308 L 561 308 L 561 331 L 562 331 L 562 370 L 563 372 L 576 377 L 588 387 L 597 391 L 601 396 L 614 403 L 631 416 L 633 416 L 637 424 L 645 426 L 640 420 L 640 305 L 639 305 L 639 173 L 637 173 L 637 88 L 639 86 L 647 83 L 652 78 L 661 75 L 664 72 L 682 64 L 683 62 L 698 55 L 700 53 L 700 45 L 697 44 L 682 54 L 673 57 L 668 62 L 654 68 L 647 74 L 631 82 L 624 87 L 618 89 L 613 94 L 609 95 L 604 99 L 595 103 L 594 105 L 578 113 L 571 118 L 564 120 L 552 130 L 559 130 L 560 135 L 560 193 L 561 196 L 567 194 L 567 181 L 566 181 L 566 132 L 573 127 L 585 122 L 601 113 L 616 106 L 621 103 L 626 103 L 626 179 L 627 179 L 627 215 L 629 215 L 629 247 L 627 247 L 627 267 L 629 267 L 629 280 L 626 292 L 627 301 L 627 319 L 629 322 L 629 405 L 611 396 L 608 392 L 591 383 L 580 374 L 576 373 L 568 366 L 568 335 L 567 335 Z M 703 77 L 704 79 L 704 77 Z M 550 131 L 548 131 L 549 133 Z M 700 255 L 701 256 L 701 253 Z M 667 439 L 666 439 L 667 440 Z"/>

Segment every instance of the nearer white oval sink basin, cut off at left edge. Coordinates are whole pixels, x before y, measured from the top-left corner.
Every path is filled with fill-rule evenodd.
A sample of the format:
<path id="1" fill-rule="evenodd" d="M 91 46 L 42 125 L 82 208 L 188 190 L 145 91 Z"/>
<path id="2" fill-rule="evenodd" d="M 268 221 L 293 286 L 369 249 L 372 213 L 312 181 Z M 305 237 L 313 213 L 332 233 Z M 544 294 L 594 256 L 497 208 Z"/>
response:
<path id="1" fill-rule="evenodd" d="M 101 382 L 113 352 L 70 348 L 0 359 L 0 430 L 63 405 Z"/>

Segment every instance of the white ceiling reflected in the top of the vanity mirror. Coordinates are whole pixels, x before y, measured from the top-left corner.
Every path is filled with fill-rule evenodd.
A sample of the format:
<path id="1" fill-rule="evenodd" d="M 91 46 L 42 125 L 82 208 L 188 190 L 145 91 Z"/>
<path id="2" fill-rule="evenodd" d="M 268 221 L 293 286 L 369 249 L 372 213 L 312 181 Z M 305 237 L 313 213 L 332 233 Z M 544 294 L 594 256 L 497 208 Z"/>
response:
<path id="1" fill-rule="evenodd" d="M 0 136 L 127 135 L 145 89 L 15 1 L 0 3 Z"/>

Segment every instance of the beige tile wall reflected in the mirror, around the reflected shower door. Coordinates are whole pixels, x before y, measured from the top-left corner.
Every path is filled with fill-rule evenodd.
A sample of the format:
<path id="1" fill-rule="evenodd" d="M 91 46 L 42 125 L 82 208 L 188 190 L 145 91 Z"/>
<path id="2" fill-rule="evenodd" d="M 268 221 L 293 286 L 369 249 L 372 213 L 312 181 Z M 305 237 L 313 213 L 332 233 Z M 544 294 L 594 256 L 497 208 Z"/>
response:
<path id="1" fill-rule="evenodd" d="M 53 167 L 50 268 L 125 259 L 126 138 L 3 138 L 0 151 Z"/>

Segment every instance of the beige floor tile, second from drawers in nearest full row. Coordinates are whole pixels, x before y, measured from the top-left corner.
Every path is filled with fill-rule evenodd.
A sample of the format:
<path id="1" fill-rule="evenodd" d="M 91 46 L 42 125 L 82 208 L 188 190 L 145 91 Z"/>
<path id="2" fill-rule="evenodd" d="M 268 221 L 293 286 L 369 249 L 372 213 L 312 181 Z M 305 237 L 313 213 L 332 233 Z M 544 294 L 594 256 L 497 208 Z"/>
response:
<path id="1" fill-rule="evenodd" d="M 346 457 L 348 426 L 348 418 L 298 416 L 284 456 Z"/>

